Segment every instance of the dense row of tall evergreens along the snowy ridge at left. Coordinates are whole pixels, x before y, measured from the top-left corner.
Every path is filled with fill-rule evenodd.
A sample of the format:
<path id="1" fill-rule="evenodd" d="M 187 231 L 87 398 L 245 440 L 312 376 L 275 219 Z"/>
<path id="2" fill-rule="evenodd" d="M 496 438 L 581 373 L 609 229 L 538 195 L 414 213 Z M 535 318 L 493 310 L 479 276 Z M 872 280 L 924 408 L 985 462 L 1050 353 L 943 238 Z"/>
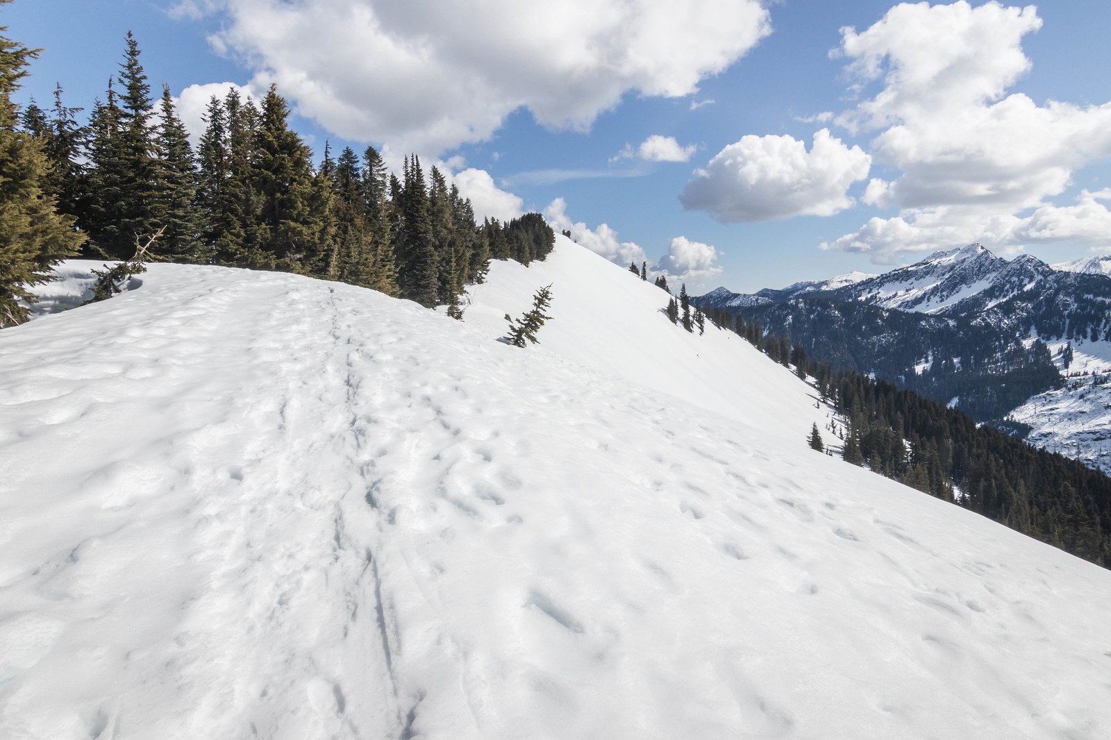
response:
<path id="1" fill-rule="evenodd" d="M 41 197 L 24 188 L 23 200 L 62 224 L 49 239 L 36 237 L 37 247 L 0 244 L 0 257 L 34 252 L 24 267 L 0 268 L 7 323 L 26 318 L 16 299 L 30 297 L 20 286 L 46 279 L 49 266 L 82 242 L 82 257 L 128 260 L 158 233 L 148 250 L 154 260 L 340 280 L 422 306 L 447 304 L 456 318 L 463 287 L 483 280 L 491 258 L 528 264 L 554 246 L 538 213 L 476 226 L 470 201 L 436 167 L 426 172 L 416 154 L 406 158 L 400 179 L 373 147 L 333 158 L 326 146 L 314 166 L 274 86 L 258 103 L 236 90 L 212 98 L 194 152 L 169 89 L 157 102 L 151 97 L 130 32 L 87 124 L 77 118 L 81 109 L 62 102 L 61 88 L 52 110 L 32 101 L 19 116 L 10 92 L 33 52 L 3 43 L 9 71 L 0 136 L 19 142 L 28 160 L 3 171 L 37 168 Z M 30 221 L 46 233 L 48 219 Z"/>

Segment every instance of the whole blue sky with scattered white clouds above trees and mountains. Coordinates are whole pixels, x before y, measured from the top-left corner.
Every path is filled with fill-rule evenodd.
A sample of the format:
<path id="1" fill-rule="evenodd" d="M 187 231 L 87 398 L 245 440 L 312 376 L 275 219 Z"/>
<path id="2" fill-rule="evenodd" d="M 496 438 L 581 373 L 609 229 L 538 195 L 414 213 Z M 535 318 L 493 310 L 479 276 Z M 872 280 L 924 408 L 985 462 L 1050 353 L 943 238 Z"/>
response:
<path id="1" fill-rule="evenodd" d="M 971 241 L 1111 251 L 1111 3 L 685 6 L 16 0 L 0 23 L 44 49 L 24 101 L 60 82 L 90 107 L 131 29 L 187 120 L 276 81 L 318 154 L 418 151 L 478 210 L 542 211 L 699 292 Z"/>

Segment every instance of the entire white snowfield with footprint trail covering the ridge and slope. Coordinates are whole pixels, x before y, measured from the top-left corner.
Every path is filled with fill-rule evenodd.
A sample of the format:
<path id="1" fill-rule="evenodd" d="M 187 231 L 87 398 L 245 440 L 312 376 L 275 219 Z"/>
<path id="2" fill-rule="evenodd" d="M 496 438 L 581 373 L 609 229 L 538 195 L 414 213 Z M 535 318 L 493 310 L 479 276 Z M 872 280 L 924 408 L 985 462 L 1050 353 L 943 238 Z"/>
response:
<path id="1" fill-rule="evenodd" d="M 811 451 L 562 238 L 462 324 L 141 278 L 0 332 L 2 738 L 1111 736 L 1111 572 Z"/>

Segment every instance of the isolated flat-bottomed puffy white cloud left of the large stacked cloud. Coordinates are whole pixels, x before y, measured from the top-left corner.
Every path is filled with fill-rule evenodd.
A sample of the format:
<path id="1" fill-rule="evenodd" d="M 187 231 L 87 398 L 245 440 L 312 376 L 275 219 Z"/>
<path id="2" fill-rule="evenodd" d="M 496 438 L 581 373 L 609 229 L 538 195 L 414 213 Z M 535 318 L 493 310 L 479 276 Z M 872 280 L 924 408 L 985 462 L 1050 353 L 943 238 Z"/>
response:
<path id="1" fill-rule="evenodd" d="M 695 170 L 680 200 L 725 223 L 832 216 L 852 206 L 848 190 L 870 164 L 860 147 L 847 147 L 829 129 L 814 134 L 809 152 L 790 136 L 750 134 Z"/>

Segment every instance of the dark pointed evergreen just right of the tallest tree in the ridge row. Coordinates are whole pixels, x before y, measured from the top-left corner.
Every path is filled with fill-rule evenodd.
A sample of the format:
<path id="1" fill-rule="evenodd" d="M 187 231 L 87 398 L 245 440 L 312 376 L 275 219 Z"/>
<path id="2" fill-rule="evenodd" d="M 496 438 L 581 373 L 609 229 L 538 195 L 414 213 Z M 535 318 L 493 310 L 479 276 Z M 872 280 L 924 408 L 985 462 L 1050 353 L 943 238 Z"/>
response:
<path id="1" fill-rule="evenodd" d="M 154 220 L 164 227 L 157 240 L 159 259 L 173 262 L 208 262 L 201 247 L 197 203 L 198 176 L 189 133 L 173 109 L 170 86 L 162 86 L 161 121 L 157 137 Z"/>

